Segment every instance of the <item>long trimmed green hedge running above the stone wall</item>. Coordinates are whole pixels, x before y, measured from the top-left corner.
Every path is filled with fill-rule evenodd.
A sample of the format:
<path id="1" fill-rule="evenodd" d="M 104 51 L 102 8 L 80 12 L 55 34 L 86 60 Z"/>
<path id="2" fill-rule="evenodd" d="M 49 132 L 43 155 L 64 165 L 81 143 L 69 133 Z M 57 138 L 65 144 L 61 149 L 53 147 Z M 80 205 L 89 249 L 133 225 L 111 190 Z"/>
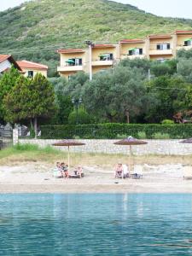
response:
<path id="1" fill-rule="evenodd" d="M 138 133 L 145 133 L 146 138 L 153 138 L 154 134 L 168 134 L 172 139 L 192 137 L 192 124 L 94 124 L 94 125 L 42 125 L 41 138 L 63 139 L 115 139 L 119 137 L 137 137 Z"/>

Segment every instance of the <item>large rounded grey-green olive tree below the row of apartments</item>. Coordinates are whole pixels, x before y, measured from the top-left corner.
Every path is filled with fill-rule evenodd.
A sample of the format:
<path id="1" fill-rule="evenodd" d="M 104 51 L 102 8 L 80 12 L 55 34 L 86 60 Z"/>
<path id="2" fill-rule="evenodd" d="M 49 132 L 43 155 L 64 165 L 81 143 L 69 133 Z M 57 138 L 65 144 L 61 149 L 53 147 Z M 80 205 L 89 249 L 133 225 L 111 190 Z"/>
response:
<path id="1" fill-rule="evenodd" d="M 118 66 L 113 74 L 98 73 L 81 90 L 84 105 L 99 119 L 130 122 L 130 117 L 143 113 L 147 107 L 145 79 L 146 73 L 137 67 Z"/>

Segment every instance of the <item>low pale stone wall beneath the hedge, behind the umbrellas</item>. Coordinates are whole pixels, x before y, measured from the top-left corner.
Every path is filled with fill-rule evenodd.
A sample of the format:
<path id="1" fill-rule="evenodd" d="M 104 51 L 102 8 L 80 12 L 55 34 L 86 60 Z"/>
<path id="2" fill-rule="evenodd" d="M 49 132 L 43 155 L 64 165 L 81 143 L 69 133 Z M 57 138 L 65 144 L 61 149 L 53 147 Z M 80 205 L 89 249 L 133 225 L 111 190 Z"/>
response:
<path id="1" fill-rule="evenodd" d="M 41 140 L 41 139 L 20 139 L 20 143 L 38 144 L 40 147 L 46 147 L 59 140 Z M 80 140 L 85 143 L 84 146 L 71 147 L 72 152 L 89 152 L 104 154 L 128 154 L 129 146 L 113 145 L 117 140 Z M 181 140 L 145 140 L 148 144 L 132 146 L 133 154 L 192 154 L 192 144 L 179 143 Z M 67 147 L 56 147 L 61 150 L 67 150 Z"/>

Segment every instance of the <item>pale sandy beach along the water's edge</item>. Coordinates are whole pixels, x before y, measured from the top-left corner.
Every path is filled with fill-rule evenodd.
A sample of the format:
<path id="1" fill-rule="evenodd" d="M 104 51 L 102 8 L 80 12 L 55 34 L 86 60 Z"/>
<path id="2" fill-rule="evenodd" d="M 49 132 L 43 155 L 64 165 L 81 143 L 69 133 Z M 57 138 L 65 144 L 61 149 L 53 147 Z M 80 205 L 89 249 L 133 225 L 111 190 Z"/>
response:
<path id="1" fill-rule="evenodd" d="M 179 163 L 145 165 L 142 179 L 114 178 L 113 170 L 83 167 L 84 177 L 73 179 L 53 177 L 51 166 L 42 163 L 0 166 L 0 193 L 192 193 L 192 180 L 183 179 Z"/>

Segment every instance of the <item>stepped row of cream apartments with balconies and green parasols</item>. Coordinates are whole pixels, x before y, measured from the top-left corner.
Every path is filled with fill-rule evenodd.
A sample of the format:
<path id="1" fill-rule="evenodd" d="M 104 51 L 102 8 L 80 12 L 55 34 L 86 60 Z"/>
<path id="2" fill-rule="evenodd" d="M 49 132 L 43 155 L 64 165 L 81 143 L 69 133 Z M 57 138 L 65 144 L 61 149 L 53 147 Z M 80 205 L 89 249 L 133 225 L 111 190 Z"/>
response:
<path id="1" fill-rule="evenodd" d="M 192 31 L 173 34 L 148 35 L 143 39 L 123 39 L 118 44 L 93 44 L 90 49 L 59 49 L 61 76 L 70 78 L 79 71 L 101 72 L 125 59 L 147 58 L 165 61 L 174 58 L 179 49 L 192 48 Z M 90 64 L 91 59 L 91 64 Z"/>

